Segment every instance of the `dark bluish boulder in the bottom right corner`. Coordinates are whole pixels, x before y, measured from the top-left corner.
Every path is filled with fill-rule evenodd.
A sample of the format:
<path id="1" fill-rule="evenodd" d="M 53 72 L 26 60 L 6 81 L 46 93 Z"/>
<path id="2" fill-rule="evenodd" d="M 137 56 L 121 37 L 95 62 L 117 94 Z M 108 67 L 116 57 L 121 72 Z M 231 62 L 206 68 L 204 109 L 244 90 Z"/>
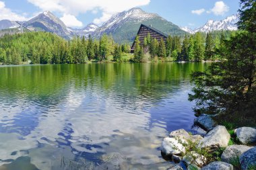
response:
<path id="1" fill-rule="evenodd" d="M 256 169 L 256 147 L 253 147 L 243 153 L 239 162 L 243 170 L 255 170 Z"/>

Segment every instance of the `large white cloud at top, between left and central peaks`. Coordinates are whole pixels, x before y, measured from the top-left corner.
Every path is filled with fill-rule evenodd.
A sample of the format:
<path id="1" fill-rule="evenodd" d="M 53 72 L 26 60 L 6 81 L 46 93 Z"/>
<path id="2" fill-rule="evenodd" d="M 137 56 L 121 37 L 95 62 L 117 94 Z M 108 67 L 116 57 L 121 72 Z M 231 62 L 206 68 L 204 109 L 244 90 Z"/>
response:
<path id="1" fill-rule="evenodd" d="M 62 14 L 77 16 L 91 11 L 102 12 L 102 16 L 94 19 L 96 24 L 106 22 L 114 13 L 148 5 L 150 0 L 27 0 L 43 11 L 56 11 Z M 75 21 L 74 21 L 75 22 Z"/>

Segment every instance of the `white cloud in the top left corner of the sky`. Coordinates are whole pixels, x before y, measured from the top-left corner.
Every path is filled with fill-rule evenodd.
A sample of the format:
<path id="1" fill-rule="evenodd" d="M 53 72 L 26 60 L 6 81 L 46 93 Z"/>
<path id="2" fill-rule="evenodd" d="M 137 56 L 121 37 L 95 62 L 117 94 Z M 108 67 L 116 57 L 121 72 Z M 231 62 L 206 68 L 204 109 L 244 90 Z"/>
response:
<path id="1" fill-rule="evenodd" d="M 28 20 L 24 15 L 19 15 L 5 7 L 5 2 L 0 1 L 0 20 L 9 19 L 11 21 L 26 21 Z"/>

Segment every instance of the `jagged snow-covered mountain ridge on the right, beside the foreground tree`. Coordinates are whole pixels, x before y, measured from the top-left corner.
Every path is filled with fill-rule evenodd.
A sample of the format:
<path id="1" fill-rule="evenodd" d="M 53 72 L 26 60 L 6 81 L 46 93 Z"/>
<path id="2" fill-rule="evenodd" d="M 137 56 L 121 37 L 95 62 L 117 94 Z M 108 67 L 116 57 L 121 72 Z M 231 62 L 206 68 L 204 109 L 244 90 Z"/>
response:
<path id="1" fill-rule="evenodd" d="M 204 26 L 196 28 L 195 30 L 188 27 L 182 27 L 181 29 L 191 34 L 194 34 L 195 32 L 212 32 L 217 30 L 234 31 L 237 30 L 236 23 L 238 22 L 238 19 L 238 15 L 231 15 L 230 17 L 226 17 L 226 19 L 221 21 L 209 20 Z"/>

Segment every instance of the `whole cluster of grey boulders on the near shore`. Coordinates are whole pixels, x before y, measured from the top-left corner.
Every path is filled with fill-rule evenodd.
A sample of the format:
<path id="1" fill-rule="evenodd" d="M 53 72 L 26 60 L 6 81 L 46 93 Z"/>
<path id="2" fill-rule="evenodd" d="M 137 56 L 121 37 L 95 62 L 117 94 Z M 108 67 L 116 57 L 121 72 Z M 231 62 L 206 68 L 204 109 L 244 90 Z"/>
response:
<path id="1" fill-rule="evenodd" d="M 201 118 L 200 118 L 201 117 Z M 236 138 L 243 145 L 228 146 L 230 134 L 225 126 L 217 125 L 211 116 L 203 115 L 195 119 L 195 124 L 207 131 L 205 135 L 192 135 L 184 129 L 174 130 L 162 141 L 162 154 L 170 157 L 174 163 L 179 163 L 169 170 L 200 169 L 201 170 L 256 170 L 256 129 L 249 127 L 234 130 Z M 204 136 L 204 137 L 203 137 Z M 203 155 L 189 151 L 189 144 L 195 143 L 199 149 L 207 148 L 214 153 L 224 149 L 221 161 L 209 163 Z M 246 146 L 245 144 L 250 144 Z M 198 151 L 198 150 L 196 150 Z M 187 153 L 186 153 L 187 152 Z"/>

